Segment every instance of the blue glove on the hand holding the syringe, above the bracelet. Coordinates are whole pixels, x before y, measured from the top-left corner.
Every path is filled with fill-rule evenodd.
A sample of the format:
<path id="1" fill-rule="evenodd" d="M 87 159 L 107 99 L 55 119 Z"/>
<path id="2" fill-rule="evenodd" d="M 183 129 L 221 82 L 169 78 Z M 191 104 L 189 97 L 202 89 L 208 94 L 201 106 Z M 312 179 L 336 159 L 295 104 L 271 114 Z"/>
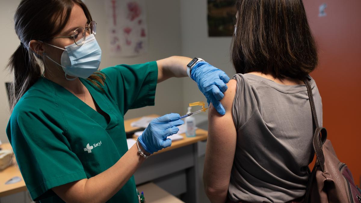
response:
<path id="1" fill-rule="evenodd" d="M 170 113 L 152 120 L 143 134 L 138 137 L 145 151 L 153 154 L 172 144 L 168 136 L 178 133 L 180 126 L 184 121 L 179 120 L 181 116 L 178 113 Z"/>

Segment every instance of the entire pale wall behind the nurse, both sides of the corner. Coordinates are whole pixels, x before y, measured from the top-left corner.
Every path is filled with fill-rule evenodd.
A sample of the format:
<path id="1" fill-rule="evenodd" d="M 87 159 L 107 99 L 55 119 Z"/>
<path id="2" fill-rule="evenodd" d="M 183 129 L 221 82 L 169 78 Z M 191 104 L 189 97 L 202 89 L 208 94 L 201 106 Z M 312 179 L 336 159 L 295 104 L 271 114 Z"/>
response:
<path id="1" fill-rule="evenodd" d="M 20 43 L 15 32 L 13 15 L 19 0 L 2 0 L 0 3 L 0 67 L 5 68 L 10 55 Z M 147 0 L 149 49 L 139 57 L 114 58 L 108 56 L 106 44 L 107 20 L 103 1 L 86 0 L 93 19 L 97 21 L 97 40 L 102 48 L 101 68 L 115 64 L 136 64 L 162 59 L 172 55 L 201 57 L 224 70 L 230 77 L 234 70 L 230 63 L 230 37 L 208 37 L 206 0 Z M 192 6 L 190 6 L 192 5 Z M 5 40 L 6 39 L 6 40 Z M 10 116 L 5 91 L 5 81 L 10 81 L 8 71 L 0 72 L 0 140 L 7 142 L 5 128 Z M 190 78 L 172 78 L 158 84 L 156 105 L 130 110 L 125 118 L 152 113 L 185 113 L 188 103 L 206 101 Z"/>

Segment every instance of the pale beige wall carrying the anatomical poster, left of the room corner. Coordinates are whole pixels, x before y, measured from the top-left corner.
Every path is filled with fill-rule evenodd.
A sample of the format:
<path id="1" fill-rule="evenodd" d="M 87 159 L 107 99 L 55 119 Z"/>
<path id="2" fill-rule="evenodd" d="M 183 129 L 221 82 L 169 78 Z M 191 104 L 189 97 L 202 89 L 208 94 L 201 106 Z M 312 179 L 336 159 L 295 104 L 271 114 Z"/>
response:
<path id="1" fill-rule="evenodd" d="M 0 25 L 1 48 L 0 67 L 5 68 L 11 54 L 16 50 L 20 41 L 14 31 L 13 16 L 20 0 L 1 0 Z M 147 21 L 149 47 L 148 53 L 133 58 L 112 58 L 108 56 L 106 44 L 107 19 L 104 1 L 86 0 L 93 19 L 97 22 L 97 41 L 102 48 L 100 67 L 105 68 L 116 64 L 137 64 L 162 59 L 172 55 L 182 54 L 179 0 L 147 0 Z M 8 71 L 0 71 L 0 140 L 8 142 L 5 128 L 10 116 L 8 100 L 5 91 L 5 81 L 10 81 Z M 182 113 L 182 79 L 171 78 L 158 84 L 154 107 L 133 109 L 127 112 L 125 118 L 133 118 L 152 113 L 166 114 L 170 112 Z"/>

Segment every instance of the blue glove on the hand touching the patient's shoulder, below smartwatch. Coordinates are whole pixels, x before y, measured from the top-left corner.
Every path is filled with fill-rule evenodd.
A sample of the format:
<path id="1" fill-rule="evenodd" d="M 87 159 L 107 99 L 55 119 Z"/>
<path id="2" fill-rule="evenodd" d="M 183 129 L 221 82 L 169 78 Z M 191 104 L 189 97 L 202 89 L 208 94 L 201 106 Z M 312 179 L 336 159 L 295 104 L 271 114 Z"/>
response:
<path id="1" fill-rule="evenodd" d="M 223 98 L 223 92 L 227 90 L 226 83 L 230 80 L 228 75 L 209 63 L 200 61 L 192 68 L 191 78 L 197 82 L 199 90 L 207 98 L 208 105 L 212 102 L 217 112 L 225 115 L 226 110 L 219 100 Z"/>

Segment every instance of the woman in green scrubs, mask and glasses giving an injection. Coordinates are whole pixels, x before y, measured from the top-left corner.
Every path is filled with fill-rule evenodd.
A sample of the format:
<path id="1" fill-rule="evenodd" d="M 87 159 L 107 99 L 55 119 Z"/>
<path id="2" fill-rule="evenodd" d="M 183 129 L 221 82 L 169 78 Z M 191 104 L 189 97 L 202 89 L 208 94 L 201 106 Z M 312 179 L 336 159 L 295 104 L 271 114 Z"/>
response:
<path id="1" fill-rule="evenodd" d="M 225 114 L 219 100 L 229 78 L 201 59 L 98 71 L 96 22 L 81 0 L 22 0 L 14 22 L 21 44 L 9 61 L 14 87 L 6 133 L 34 200 L 138 202 L 135 170 L 170 146 L 166 137 L 183 124 L 174 113 L 156 118 L 128 150 L 123 117 L 154 105 L 158 82 L 188 72 Z"/>

